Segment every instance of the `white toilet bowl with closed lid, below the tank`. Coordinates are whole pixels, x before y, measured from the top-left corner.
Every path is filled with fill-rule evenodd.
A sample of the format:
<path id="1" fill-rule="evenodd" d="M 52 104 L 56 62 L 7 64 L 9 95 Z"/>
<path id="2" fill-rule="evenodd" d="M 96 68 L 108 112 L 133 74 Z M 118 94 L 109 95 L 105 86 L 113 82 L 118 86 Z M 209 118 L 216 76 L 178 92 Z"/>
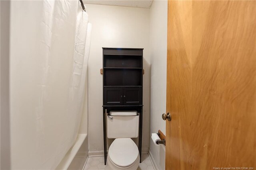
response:
<path id="1" fill-rule="evenodd" d="M 130 138 L 115 139 L 108 150 L 109 170 L 136 170 L 140 163 L 137 145 Z"/>

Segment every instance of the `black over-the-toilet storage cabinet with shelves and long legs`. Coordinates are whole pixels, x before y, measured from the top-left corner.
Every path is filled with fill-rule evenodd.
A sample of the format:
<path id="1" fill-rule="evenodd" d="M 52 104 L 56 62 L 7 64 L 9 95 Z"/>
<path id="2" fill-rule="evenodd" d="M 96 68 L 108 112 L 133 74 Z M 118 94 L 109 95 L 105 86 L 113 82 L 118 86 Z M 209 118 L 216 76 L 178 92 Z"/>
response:
<path id="1" fill-rule="evenodd" d="M 103 49 L 103 135 L 107 159 L 106 115 L 110 110 L 136 110 L 140 116 L 138 149 L 142 147 L 143 49 Z"/>

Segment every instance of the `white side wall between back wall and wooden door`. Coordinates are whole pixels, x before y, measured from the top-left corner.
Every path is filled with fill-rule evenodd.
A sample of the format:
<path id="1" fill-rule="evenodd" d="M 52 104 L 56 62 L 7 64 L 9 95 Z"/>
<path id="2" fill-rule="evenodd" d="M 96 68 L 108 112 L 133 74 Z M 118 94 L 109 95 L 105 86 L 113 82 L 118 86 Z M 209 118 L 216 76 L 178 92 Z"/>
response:
<path id="1" fill-rule="evenodd" d="M 165 134 L 167 56 L 167 0 L 154 0 L 150 8 L 150 134 Z M 160 170 L 165 169 L 165 146 L 150 140 L 150 151 Z"/>

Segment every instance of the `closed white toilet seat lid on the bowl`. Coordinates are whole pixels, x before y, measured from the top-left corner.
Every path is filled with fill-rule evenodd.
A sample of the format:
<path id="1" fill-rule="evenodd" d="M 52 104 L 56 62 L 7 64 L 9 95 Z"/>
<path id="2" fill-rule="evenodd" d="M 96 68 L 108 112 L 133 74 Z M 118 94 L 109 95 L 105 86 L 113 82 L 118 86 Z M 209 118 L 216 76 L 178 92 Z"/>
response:
<path id="1" fill-rule="evenodd" d="M 130 138 L 115 139 L 109 147 L 108 156 L 119 167 L 128 167 L 138 159 L 139 150 Z"/>

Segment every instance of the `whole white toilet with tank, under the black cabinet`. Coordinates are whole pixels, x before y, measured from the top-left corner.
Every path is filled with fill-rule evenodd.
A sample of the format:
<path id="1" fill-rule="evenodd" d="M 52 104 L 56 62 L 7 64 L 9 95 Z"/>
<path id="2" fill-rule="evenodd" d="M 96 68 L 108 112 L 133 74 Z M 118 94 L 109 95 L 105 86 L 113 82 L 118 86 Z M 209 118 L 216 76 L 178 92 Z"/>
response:
<path id="1" fill-rule="evenodd" d="M 131 138 L 138 137 L 137 111 L 110 111 L 107 118 L 107 136 L 115 139 L 108 149 L 107 164 L 111 170 L 136 170 L 140 163 L 137 145 Z"/>

